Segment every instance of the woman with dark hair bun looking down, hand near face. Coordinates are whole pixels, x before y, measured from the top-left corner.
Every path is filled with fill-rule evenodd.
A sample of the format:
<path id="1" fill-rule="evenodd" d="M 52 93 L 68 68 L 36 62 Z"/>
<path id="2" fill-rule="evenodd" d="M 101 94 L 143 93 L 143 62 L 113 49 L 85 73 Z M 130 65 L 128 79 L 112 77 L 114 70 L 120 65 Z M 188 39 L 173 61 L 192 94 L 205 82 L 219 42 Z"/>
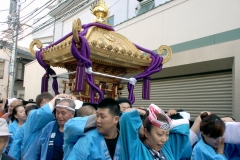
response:
<path id="1" fill-rule="evenodd" d="M 224 143 L 226 125 L 221 118 L 209 112 L 203 112 L 199 118 L 201 138 L 194 146 L 192 160 L 227 160 L 239 157 L 238 145 Z"/>

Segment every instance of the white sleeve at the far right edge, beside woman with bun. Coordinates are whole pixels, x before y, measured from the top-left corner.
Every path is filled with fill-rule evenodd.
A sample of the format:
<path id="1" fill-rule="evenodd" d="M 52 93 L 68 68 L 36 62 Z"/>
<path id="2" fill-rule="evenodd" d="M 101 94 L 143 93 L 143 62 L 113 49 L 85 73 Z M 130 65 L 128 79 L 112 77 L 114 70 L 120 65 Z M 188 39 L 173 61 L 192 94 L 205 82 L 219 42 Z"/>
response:
<path id="1" fill-rule="evenodd" d="M 240 122 L 226 122 L 223 137 L 226 143 L 240 144 Z"/>

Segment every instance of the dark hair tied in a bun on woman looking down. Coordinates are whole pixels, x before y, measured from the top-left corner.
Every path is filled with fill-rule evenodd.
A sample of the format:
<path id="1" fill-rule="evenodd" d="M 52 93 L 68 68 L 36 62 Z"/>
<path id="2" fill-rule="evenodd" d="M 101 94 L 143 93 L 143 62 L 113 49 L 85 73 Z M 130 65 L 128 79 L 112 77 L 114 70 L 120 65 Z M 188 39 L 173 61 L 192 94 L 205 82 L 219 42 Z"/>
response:
<path id="1" fill-rule="evenodd" d="M 202 122 L 200 131 L 209 137 L 220 137 L 224 134 L 225 123 L 215 114 L 208 115 L 207 112 L 201 114 Z"/>

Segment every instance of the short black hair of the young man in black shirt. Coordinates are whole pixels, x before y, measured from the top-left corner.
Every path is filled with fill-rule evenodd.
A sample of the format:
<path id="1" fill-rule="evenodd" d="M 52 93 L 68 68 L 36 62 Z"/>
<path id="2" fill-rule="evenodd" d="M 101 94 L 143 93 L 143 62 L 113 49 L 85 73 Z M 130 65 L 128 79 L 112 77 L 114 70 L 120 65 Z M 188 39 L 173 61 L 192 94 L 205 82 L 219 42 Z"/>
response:
<path id="1" fill-rule="evenodd" d="M 120 116 L 120 106 L 117 101 L 112 98 L 104 98 L 98 104 L 98 108 L 108 108 L 110 114 Z"/>

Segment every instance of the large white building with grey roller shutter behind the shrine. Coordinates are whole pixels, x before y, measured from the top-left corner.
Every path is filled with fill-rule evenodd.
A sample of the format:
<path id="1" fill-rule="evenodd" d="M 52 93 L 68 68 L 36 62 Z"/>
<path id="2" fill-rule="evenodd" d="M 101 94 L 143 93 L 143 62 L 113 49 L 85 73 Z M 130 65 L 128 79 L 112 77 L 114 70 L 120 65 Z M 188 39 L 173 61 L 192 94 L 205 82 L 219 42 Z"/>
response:
<path id="1" fill-rule="evenodd" d="M 33 39 L 49 44 L 71 32 L 75 18 L 80 18 L 82 24 L 92 22 L 91 2 L 61 1 L 49 13 L 50 20 L 35 27 Z M 168 45 L 173 51 L 163 70 L 152 76 L 151 100 L 141 99 L 141 82 L 135 86 L 135 106 L 155 103 L 164 110 L 184 109 L 192 117 L 208 110 L 240 120 L 240 1 L 105 2 L 110 8 L 109 23 L 116 32 L 144 48 L 156 51 Z M 26 91 L 31 90 L 29 84 L 25 80 Z M 40 80 L 34 84 L 40 85 Z M 127 96 L 126 90 L 123 96 Z"/>

